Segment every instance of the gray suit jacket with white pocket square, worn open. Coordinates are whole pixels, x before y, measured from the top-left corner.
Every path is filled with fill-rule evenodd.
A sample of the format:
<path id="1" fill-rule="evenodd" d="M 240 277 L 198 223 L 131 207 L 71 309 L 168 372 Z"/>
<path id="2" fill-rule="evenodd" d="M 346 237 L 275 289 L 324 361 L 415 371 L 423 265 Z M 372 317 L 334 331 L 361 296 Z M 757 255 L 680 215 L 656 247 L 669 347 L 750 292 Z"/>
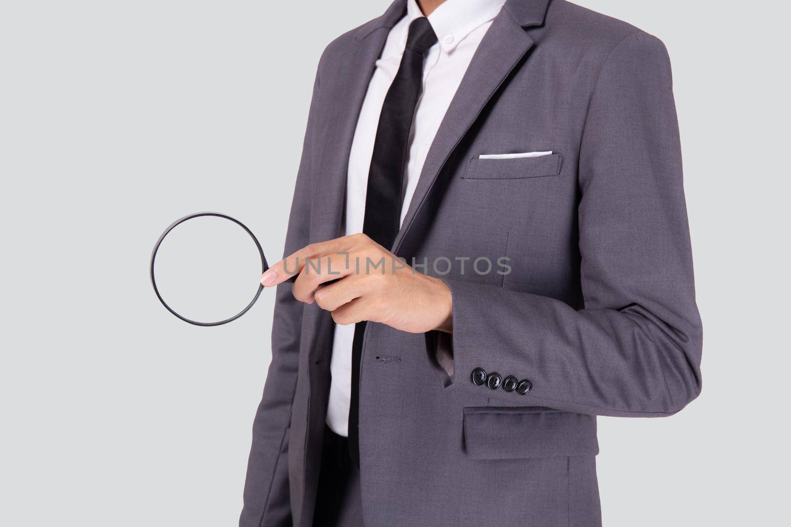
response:
<path id="1" fill-rule="evenodd" d="M 403 12 L 396 0 L 320 59 L 287 254 L 340 235 L 358 111 Z M 660 40 L 563 0 L 509 0 L 448 108 L 392 250 L 418 262 L 507 256 L 512 272 L 455 266 L 442 276 L 453 295 L 452 377 L 434 335 L 368 325 L 366 524 L 598 525 L 596 415 L 669 416 L 701 389 Z M 277 292 L 243 527 L 313 521 L 334 326 L 290 288 Z M 476 386 L 476 367 L 529 379 L 532 391 Z"/>

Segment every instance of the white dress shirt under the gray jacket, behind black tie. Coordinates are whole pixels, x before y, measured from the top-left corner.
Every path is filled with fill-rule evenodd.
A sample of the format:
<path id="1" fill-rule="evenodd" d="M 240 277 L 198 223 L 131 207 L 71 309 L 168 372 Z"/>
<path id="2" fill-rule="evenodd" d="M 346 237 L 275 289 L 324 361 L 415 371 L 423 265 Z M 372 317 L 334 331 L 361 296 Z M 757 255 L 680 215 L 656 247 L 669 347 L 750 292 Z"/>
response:
<path id="1" fill-rule="evenodd" d="M 409 138 L 407 168 L 404 174 L 401 221 L 409 209 L 415 186 L 426 161 L 434 135 L 445 117 L 456 88 L 459 87 L 472 55 L 486 34 L 505 0 L 445 0 L 428 16 L 437 34 L 423 64 L 422 92 L 415 108 Z M 365 192 L 384 96 L 398 73 L 401 55 L 407 44 L 409 24 L 423 14 L 415 0 L 407 0 L 407 15 L 393 26 L 365 93 L 357 128 L 354 130 L 346 175 L 346 235 L 362 232 Z M 388 247 L 389 248 L 389 247 Z M 335 326 L 330 372 L 330 400 L 327 426 L 338 435 L 349 435 L 351 394 L 351 347 L 354 324 Z"/>

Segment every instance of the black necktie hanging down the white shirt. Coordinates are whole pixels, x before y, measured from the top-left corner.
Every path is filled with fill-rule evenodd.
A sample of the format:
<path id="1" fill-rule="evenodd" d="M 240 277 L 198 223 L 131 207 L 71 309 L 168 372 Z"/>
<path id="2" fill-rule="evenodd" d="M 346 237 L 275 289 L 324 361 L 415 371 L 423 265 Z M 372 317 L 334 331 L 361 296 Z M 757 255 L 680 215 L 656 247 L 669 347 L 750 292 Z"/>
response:
<path id="1" fill-rule="evenodd" d="M 407 163 L 407 147 L 412 127 L 414 107 L 423 78 L 423 60 L 429 48 L 437 42 L 426 17 L 415 18 L 409 24 L 407 47 L 403 51 L 398 73 L 384 97 L 379 115 L 377 137 L 368 172 L 365 192 L 365 219 L 362 232 L 385 249 L 392 247 L 399 231 L 403 173 Z M 365 322 L 354 327 L 351 352 L 351 398 L 349 408 L 349 454 L 360 466 L 360 359 Z"/>

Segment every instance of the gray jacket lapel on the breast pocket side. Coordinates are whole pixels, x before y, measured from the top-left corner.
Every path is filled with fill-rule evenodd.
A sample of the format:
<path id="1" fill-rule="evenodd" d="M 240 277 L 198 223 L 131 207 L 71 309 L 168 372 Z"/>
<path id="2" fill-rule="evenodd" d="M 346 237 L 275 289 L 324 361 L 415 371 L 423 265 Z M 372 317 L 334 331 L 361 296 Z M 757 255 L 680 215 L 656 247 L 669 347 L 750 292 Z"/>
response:
<path id="1" fill-rule="evenodd" d="M 426 201 L 448 157 L 478 119 L 486 103 L 532 46 L 533 40 L 521 24 L 508 9 L 502 9 L 475 51 L 437 130 L 407 215 L 393 243 L 395 254 L 399 254 L 403 239 L 413 227 L 415 216 Z"/>

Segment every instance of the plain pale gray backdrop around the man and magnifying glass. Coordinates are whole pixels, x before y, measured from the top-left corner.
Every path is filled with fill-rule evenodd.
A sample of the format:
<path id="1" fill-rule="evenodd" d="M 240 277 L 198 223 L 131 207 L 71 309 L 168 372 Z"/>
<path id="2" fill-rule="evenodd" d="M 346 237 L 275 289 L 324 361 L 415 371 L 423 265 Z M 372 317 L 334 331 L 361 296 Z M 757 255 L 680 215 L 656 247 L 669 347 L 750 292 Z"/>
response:
<path id="1" fill-rule="evenodd" d="M 777 524 L 787 18 L 778 2 L 578 3 L 668 47 L 705 328 L 689 408 L 600 419 L 604 524 Z M 279 257 L 320 53 L 387 2 L 0 5 L 0 524 L 233 525 L 274 295 L 188 326 L 157 303 L 149 252 L 209 209 Z"/>

